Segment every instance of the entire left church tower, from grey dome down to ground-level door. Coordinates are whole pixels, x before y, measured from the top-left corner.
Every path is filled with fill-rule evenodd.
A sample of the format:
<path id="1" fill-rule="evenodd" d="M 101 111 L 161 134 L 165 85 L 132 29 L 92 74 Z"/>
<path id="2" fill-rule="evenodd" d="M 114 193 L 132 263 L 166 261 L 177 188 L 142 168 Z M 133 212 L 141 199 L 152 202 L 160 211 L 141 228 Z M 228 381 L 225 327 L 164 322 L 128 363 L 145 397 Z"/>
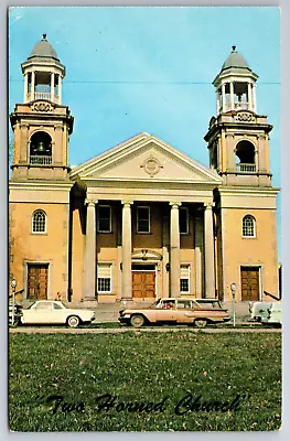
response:
<path id="1" fill-rule="evenodd" d="M 62 105 L 65 67 L 44 34 L 21 68 L 23 103 L 10 115 L 10 277 L 23 289 L 23 302 L 69 300 L 68 138 L 74 119 Z"/>

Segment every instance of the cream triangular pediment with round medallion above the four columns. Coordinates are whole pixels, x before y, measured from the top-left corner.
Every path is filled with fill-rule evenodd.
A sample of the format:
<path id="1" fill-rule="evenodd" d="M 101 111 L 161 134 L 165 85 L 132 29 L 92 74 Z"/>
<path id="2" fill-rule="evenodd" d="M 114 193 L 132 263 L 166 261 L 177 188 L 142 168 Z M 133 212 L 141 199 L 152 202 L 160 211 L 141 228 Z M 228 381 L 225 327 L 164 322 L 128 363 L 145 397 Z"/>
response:
<path id="1" fill-rule="evenodd" d="M 221 178 L 159 138 L 140 133 L 76 166 L 72 179 L 219 184 Z"/>

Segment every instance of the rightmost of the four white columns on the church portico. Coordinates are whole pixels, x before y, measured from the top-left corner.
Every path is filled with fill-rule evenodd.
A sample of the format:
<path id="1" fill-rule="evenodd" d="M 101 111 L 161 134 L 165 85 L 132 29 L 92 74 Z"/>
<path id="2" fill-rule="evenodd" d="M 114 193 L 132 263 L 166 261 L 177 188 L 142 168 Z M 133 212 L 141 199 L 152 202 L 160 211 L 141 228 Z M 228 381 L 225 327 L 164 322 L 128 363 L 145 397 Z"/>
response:
<path id="1" fill-rule="evenodd" d="M 213 206 L 206 204 L 204 211 L 205 297 L 215 297 L 215 260 Z"/>

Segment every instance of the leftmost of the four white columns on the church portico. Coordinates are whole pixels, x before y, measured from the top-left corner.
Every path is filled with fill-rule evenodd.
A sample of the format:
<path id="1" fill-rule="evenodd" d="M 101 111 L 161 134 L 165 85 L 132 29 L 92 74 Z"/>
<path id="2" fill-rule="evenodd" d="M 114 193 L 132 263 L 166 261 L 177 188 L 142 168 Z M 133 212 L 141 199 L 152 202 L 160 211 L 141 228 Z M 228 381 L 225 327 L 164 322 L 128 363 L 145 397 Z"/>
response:
<path id="1" fill-rule="evenodd" d="M 96 299 L 96 201 L 86 200 L 87 223 L 84 261 L 84 300 Z"/>

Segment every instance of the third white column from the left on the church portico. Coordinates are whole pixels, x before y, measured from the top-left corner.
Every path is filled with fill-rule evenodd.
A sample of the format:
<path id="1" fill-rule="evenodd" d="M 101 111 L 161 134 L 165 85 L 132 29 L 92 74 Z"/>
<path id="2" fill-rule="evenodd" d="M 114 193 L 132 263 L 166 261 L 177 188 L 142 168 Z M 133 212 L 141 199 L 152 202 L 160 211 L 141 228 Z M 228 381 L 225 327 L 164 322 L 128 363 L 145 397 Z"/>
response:
<path id="1" fill-rule="evenodd" d="M 171 202 L 170 211 L 170 294 L 180 297 L 180 203 Z"/>

